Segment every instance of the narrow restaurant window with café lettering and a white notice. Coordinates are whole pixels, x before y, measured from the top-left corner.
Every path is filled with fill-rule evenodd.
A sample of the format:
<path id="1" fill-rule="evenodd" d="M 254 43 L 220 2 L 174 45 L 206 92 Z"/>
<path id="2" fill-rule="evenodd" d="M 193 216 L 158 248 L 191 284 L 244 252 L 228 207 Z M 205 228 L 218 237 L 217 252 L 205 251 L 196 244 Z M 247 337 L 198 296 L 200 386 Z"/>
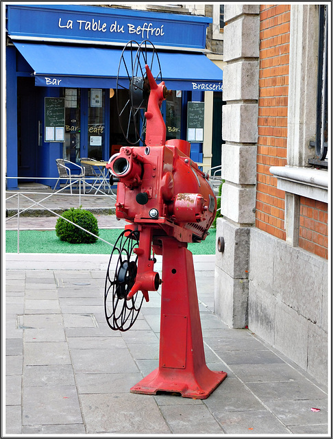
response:
<path id="1" fill-rule="evenodd" d="M 88 157 L 103 159 L 105 143 L 105 91 L 90 88 L 88 91 Z"/>

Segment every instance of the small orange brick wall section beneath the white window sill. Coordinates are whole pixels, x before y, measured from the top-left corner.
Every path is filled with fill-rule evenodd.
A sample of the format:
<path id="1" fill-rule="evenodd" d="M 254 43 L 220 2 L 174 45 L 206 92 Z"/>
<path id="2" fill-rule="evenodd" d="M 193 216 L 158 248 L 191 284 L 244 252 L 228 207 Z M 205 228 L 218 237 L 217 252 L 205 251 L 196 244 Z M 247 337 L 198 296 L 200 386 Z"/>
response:
<path id="1" fill-rule="evenodd" d="M 300 197 L 299 247 L 328 259 L 328 205 Z"/>

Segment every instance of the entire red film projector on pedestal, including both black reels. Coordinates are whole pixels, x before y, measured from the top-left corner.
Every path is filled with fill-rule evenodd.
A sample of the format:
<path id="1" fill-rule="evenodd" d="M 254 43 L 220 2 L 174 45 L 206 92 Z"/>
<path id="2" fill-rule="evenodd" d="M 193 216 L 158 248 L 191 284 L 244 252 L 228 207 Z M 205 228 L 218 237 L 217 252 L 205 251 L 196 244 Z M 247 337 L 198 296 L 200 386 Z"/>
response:
<path id="1" fill-rule="evenodd" d="M 206 238 L 217 202 L 208 176 L 189 158 L 190 143 L 166 141 L 160 106 L 169 92 L 158 79 L 162 80 L 160 62 L 153 45 L 127 43 L 116 92 L 119 121 L 132 146 L 121 147 L 107 167 L 110 179 L 118 180 L 116 217 L 129 224 L 116 241 L 108 266 L 106 319 L 112 329 L 127 331 L 143 300 L 148 301 L 149 292 L 161 285 L 159 366 L 131 392 L 177 392 L 206 399 L 227 373 L 206 366 L 193 257 L 187 244 Z M 125 102 L 122 89 L 128 90 Z M 123 123 L 126 111 L 128 120 Z M 135 146 L 138 143 L 144 146 Z M 154 271 L 154 254 L 162 255 L 162 279 Z"/>

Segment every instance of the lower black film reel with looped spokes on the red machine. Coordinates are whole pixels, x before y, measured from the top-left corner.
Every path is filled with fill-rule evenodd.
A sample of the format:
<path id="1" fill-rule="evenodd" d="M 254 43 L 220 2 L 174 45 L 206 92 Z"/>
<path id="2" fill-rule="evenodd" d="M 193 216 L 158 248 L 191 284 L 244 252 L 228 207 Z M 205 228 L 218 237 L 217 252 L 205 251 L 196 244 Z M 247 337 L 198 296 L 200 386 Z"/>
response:
<path id="1" fill-rule="evenodd" d="M 106 321 L 114 331 L 130 329 L 143 304 L 144 297 L 140 292 L 127 300 L 136 279 L 138 257 L 133 250 L 138 244 L 138 232 L 124 230 L 111 253 L 104 290 L 104 311 Z M 115 259 L 116 266 L 112 270 Z"/>

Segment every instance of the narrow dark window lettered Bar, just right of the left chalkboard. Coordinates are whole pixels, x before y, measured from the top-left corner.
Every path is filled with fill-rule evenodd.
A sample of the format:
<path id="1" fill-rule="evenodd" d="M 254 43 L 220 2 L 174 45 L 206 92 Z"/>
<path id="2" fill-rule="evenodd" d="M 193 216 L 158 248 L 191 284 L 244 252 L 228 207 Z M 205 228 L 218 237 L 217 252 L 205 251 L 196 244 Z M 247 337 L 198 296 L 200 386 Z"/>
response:
<path id="1" fill-rule="evenodd" d="M 64 98 L 65 141 L 63 143 L 62 158 L 77 163 L 79 161 L 81 134 L 79 88 L 65 88 Z"/>

